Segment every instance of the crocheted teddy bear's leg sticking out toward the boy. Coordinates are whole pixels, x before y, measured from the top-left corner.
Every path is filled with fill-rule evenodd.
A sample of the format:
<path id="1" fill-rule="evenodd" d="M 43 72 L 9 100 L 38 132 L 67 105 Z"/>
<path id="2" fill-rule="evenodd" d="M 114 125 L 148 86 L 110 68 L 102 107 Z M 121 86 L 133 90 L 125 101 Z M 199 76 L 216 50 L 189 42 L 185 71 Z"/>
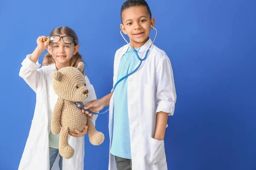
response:
<path id="1" fill-rule="evenodd" d="M 93 123 L 90 121 L 89 118 L 87 118 L 87 126 L 88 126 L 88 136 L 89 136 L 90 143 L 93 145 L 102 144 L 105 138 L 104 134 L 101 132 L 98 132 L 95 129 Z"/>

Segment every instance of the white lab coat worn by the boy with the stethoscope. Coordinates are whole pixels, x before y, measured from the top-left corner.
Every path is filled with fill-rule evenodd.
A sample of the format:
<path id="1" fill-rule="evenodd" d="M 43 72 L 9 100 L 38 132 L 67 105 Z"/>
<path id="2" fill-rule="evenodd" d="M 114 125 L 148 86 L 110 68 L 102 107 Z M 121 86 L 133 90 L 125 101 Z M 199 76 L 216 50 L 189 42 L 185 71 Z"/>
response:
<path id="1" fill-rule="evenodd" d="M 147 51 L 151 42 L 149 39 L 140 51 Z M 116 51 L 113 85 L 117 81 L 120 60 L 127 49 L 128 45 L 125 45 Z M 145 53 L 138 54 L 140 58 L 145 56 Z M 155 45 L 151 46 L 147 59 L 134 74 L 128 77 L 127 91 L 132 170 L 167 170 L 164 141 L 153 139 L 156 113 L 163 111 L 173 115 L 176 102 L 172 66 L 164 51 Z M 109 109 L 110 147 L 113 133 L 113 101 L 114 94 Z M 115 157 L 111 153 L 109 170 L 116 170 Z"/>

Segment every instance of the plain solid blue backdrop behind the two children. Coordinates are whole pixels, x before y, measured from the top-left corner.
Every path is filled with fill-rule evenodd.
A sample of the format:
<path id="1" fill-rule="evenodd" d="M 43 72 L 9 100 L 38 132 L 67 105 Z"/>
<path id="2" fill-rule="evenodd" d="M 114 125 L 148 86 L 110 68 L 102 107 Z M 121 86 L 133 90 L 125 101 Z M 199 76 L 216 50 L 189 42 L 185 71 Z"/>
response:
<path id="1" fill-rule="evenodd" d="M 112 88 L 115 51 L 125 45 L 119 33 L 123 2 L 0 1 L 1 170 L 17 170 L 29 134 L 35 93 L 18 73 L 38 36 L 58 26 L 73 28 L 85 72 L 102 97 Z M 255 170 L 256 1 L 148 4 L 158 30 L 155 45 L 171 59 L 177 91 L 165 136 L 168 169 Z M 108 114 L 96 124 L 105 142 L 93 146 L 85 136 L 86 169 L 107 170 Z"/>

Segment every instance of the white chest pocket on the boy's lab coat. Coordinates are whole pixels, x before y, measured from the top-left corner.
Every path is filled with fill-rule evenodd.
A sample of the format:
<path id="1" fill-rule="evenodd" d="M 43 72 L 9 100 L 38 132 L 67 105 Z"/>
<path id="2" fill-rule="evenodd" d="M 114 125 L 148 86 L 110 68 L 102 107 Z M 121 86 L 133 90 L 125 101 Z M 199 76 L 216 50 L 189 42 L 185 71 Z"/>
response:
<path id="1" fill-rule="evenodd" d="M 155 108 L 155 86 L 145 84 L 143 103 L 146 108 Z"/>

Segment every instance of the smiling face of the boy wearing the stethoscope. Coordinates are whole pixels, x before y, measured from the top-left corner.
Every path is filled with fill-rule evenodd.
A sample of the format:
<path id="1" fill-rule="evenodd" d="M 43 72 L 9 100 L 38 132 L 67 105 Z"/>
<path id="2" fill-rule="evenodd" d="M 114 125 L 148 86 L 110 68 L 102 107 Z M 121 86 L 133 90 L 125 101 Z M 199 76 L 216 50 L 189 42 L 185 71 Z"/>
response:
<path id="1" fill-rule="evenodd" d="M 139 48 L 148 41 L 151 25 L 154 27 L 154 18 L 150 19 L 145 6 L 133 6 L 122 12 L 120 28 L 130 38 L 133 48 Z"/>

